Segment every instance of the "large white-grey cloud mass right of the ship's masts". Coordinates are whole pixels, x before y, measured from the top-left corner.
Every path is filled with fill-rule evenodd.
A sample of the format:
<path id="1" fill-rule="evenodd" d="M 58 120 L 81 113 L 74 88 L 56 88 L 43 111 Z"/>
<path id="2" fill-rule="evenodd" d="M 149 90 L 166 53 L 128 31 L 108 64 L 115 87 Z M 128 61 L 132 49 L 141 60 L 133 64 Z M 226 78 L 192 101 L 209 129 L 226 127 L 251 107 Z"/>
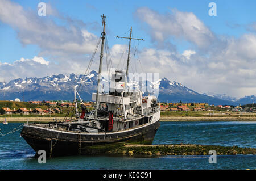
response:
<path id="1" fill-rule="evenodd" d="M 255 34 L 246 33 L 238 38 L 217 36 L 195 14 L 178 10 L 160 14 L 142 7 L 135 16 L 147 24 L 153 41 L 166 43 L 175 38 L 191 43 L 191 49 L 182 54 L 145 50 L 144 65 L 159 71 L 160 77 L 181 82 L 200 93 L 214 91 L 237 97 L 255 94 Z"/>

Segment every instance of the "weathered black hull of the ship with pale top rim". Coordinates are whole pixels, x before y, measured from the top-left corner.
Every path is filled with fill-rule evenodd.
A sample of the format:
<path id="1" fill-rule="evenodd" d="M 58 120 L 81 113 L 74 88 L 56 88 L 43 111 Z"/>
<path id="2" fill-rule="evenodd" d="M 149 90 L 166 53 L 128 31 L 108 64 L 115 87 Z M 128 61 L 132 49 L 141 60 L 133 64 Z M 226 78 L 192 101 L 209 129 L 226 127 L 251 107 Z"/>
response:
<path id="1" fill-rule="evenodd" d="M 131 128 L 126 131 L 86 134 L 82 132 L 58 132 L 56 129 L 28 124 L 24 125 L 20 135 L 36 153 L 39 150 L 45 150 L 48 157 L 55 157 L 78 154 L 103 154 L 126 143 L 152 144 L 159 127 L 160 121 L 158 120 L 154 123 Z"/>

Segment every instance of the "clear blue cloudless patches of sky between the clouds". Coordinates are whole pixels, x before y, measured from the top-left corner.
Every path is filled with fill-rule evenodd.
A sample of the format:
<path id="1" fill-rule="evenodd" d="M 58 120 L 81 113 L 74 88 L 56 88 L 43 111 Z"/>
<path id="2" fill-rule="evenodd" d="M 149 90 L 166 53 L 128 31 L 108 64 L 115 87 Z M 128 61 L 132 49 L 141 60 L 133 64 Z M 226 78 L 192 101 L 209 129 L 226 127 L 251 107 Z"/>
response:
<path id="1" fill-rule="evenodd" d="M 150 37 L 141 29 L 141 25 L 134 18 L 134 12 L 139 7 L 149 7 L 152 10 L 167 13 L 170 9 L 179 11 L 193 12 L 206 26 L 220 35 L 240 36 L 246 32 L 242 27 L 253 22 L 252 17 L 256 17 L 255 1 L 13 1 L 19 3 L 24 9 L 38 9 L 39 2 L 51 3 L 61 14 L 79 19 L 84 22 L 101 22 L 101 14 L 107 16 L 108 30 L 111 32 L 109 37 L 110 45 L 118 41 L 114 37 L 123 34 L 133 26 L 133 32 L 137 37 L 147 39 L 144 45 L 150 46 Z M 217 16 L 209 16 L 208 4 L 215 2 L 217 5 Z M 57 21 L 58 22 L 58 21 Z M 240 24 L 241 27 L 232 28 Z M 17 34 L 9 25 L 0 22 L 0 60 L 14 62 L 20 57 L 32 58 L 39 52 L 37 45 L 23 46 Z M 99 35 L 100 31 L 94 32 Z M 189 45 L 186 42 L 176 42 L 177 47 L 184 50 Z M 15 53 L 14 53 L 15 52 Z"/>

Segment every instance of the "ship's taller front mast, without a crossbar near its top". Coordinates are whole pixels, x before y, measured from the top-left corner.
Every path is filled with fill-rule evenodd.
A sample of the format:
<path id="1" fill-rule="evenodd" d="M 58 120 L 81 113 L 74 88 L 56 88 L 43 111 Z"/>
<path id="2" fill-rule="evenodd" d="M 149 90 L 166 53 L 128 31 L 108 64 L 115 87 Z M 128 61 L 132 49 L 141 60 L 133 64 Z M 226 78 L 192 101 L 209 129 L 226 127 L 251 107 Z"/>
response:
<path id="1" fill-rule="evenodd" d="M 100 54 L 100 66 L 98 68 L 98 83 L 97 83 L 97 94 L 96 94 L 96 110 L 94 117 L 97 117 L 98 114 L 98 94 L 100 91 L 100 81 L 101 81 L 101 68 L 102 68 L 102 58 L 103 58 L 103 51 L 104 51 L 104 40 L 105 40 L 105 23 L 106 23 L 106 16 L 104 14 L 101 16 L 102 18 L 102 25 L 103 25 L 103 31 L 101 33 L 101 54 Z"/>

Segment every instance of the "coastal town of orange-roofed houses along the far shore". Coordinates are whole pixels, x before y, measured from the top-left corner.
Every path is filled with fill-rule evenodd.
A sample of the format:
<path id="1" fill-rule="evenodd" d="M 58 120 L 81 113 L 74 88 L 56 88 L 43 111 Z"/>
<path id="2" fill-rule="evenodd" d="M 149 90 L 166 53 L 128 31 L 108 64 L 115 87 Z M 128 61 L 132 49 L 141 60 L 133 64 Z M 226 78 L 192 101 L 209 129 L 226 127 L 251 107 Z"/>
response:
<path id="1" fill-rule="evenodd" d="M 78 107 L 81 107 L 79 103 Z M 91 110 L 94 102 L 83 102 L 83 105 Z M 8 106 L 7 106 L 8 105 Z M 208 103 L 159 103 L 161 115 L 171 112 L 201 112 L 201 113 L 253 113 L 256 112 L 256 107 L 253 104 L 243 106 L 232 105 L 209 105 Z M 45 101 L 31 100 L 28 102 L 16 101 L 0 101 L 0 115 L 44 115 L 44 116 L 60 116 L 74 108 L 75 103 L 68 101 Z"/>

